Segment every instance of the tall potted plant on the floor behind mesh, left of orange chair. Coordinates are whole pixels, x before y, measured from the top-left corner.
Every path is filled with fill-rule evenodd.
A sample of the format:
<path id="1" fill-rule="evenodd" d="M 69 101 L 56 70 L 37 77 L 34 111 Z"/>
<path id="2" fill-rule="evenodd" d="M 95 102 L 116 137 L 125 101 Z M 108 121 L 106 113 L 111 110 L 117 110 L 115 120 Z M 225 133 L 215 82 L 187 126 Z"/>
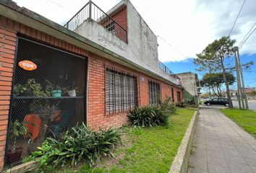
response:
<path id="1" fill-rule="evenodd" d="M 7 151 L 7 164 L 12 164 L 20 160 L 22 155 L 22 147 L 16 147 L 17 138 L 27 134 L 27 127 L 20 123 L 19 120 L 14 120 L 10 123 L 9 128 L 9 143 L 10 148 Z"/>

